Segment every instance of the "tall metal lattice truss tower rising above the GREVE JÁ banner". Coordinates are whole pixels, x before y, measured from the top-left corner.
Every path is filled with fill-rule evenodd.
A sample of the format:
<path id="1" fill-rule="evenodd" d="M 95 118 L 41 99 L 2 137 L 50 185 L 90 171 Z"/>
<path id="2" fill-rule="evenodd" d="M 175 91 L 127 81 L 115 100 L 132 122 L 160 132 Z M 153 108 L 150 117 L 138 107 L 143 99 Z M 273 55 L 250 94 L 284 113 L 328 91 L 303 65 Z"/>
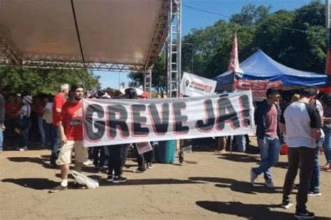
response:
<path id="1" fill-rule="evenodd" d="M 182 64 L 182 1 L 170 0 L 167 42 L 168 97 L 178 97 Z"/>

